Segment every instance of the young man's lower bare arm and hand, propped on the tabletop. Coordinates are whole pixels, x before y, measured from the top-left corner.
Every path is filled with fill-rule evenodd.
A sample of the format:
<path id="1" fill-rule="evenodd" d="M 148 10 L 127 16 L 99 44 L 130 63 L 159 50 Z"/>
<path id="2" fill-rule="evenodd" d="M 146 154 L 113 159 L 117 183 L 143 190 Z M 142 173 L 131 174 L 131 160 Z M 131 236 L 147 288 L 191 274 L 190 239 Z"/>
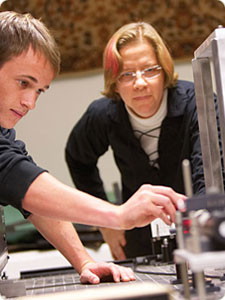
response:
<path id="1" fill-rule="evenodd" d="M 31 214 L 29 220 L 38 231 L 71 263 L 80 274 L 82 283 L 99 283 L 100 279 L 111 275 L 116 282 L 135 280 L 131 269 L 113 263 L 96 263 L 82 245 L 78 234 L 70 222 L 58 221 Z"/>

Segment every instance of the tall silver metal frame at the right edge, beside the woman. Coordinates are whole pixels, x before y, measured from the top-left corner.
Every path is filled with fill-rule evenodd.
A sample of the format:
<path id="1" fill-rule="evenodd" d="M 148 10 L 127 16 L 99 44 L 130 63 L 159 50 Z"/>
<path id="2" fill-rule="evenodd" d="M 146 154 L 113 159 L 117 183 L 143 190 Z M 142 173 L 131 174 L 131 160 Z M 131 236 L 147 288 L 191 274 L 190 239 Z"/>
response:
<path id="1" fill-rule="evenodd" d="M 225 28 L 215 29 L 194 52 L 194 56 L 192 67 L 206 191 L 216 187 L 219 192 L 224 192 L 221 161 L 225 161 Z M 210 64 L 214 67 L 222 151 L 219 147 Z"/>

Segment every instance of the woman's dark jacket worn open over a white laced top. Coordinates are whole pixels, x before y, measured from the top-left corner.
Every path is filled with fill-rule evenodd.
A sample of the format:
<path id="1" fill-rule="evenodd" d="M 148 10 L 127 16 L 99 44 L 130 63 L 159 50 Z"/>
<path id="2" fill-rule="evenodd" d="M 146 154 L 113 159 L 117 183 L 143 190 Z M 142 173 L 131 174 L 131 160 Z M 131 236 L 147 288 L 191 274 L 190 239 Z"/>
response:
<path id="1" fill-rule="evenodd" d="M 202 194 L 205 191 L 195 92 L 191 82 L 178 81 L 176 87 L 168 89 L 168 112 L 162 122 L 158 143 L 159 169 L 149 164 L 147 154 L 134 136 L 123 101 L 101 98 L 91 103 L 72 129 L 66 145 L 66 161 L 76 187 L 102 199 L 107 197 L 97 162 L 109 146 L 121 174 L 123 201 L 144 183 L 170 186 L 185 193 L 184 159 L 189 159 L 191 164 L 193 192 Z M 149 226 L 131 232 L 138 232 L 138 239 L 141 232 L 145 232 L 143 240 L 147 241 L 137 251 L 127 250 L 127 255 L 150 254 Z M 128 234 L 133 236 L 131 232 Z M 131 248 L 136 247 L 134 239 L 133 236 Z"/>

